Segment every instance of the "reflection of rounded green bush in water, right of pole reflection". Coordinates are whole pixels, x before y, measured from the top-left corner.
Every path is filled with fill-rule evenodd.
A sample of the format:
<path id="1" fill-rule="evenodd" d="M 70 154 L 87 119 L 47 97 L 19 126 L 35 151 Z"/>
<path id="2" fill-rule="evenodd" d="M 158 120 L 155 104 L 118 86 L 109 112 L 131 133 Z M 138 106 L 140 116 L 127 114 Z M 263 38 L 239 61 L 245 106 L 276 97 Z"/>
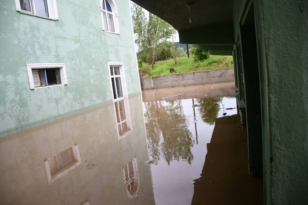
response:
<path id="1" fill-rule="evenodd" d="M 210 97 L 210 98 L 200 98 L 197 99 L 199 112 L 204 113 L 202 115 L 202 120 L 203 122 L 213 125 L 217 116 L 218 116 L 218 111 L 220 109 L 219 103 L 220 100 L 217 97 Z"/>

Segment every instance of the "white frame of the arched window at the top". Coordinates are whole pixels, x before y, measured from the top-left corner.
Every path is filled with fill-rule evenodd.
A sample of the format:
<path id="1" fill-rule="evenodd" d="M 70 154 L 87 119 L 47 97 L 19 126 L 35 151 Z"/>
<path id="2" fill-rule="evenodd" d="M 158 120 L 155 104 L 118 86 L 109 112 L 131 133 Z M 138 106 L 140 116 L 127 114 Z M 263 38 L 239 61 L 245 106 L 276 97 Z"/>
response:
<path id="1" fill-rule="evenodd" d="M 110 6 L 111 6 L 112 12 L 107 11 L 106 5 L 105 5 L 106 10 L 103 9 L 103 6 L 102 6 L 103 5 L 103 0 L 100 0 L 100 4 L 99 4 L 99 10 L 100 10 L 100 14 L 101 14 L 101 18 L 102 18 L 102 24 L 103 24 L 103 31 L 106 31 L 106 32 L 109 32 L 109 33 L 113 33 L 113 34 L 120 34 L 118 9 L 117 9 L 117 7 L 115 5 L 115 2 L 113 0 L 108 0 L 108 2 L 110 4 Z M 113 25 L 115 27 L 115 32 L 107 30 L 106 26 L 104 25 L 103 12 L 106 12 L 106 15 L 107 14 L 112 14 Z M 108 26 L 108 28 L 110 28 L 109 27 L 109 22 L 108 22 L 108 17 L 107 17 L 107 26 Z"/>

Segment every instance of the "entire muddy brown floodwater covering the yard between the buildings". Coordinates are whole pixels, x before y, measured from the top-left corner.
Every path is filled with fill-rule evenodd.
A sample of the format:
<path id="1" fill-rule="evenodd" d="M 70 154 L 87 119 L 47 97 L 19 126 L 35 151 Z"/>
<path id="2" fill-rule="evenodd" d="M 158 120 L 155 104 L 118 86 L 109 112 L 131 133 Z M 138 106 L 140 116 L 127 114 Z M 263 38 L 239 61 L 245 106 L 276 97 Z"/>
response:
<path id="1" fill-rule="evenodd" d="M 0 204 L 262 204 L 232 83 L 142 94 L 120 140 L 112 103 L 1 138 Z"/>

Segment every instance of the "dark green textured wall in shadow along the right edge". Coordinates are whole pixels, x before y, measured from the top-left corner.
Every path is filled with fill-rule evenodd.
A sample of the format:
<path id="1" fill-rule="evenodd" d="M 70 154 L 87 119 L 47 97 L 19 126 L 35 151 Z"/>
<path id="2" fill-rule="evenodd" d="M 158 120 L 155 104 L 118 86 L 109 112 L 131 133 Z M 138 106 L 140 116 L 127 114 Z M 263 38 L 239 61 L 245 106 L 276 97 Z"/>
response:
<path id="1" fill-rule="evenodd" d="M 235 37 L 241 36 L 250 3 L 259 60 L 264 202 L 307 204 L 308 2 L 234 1 Z"/>

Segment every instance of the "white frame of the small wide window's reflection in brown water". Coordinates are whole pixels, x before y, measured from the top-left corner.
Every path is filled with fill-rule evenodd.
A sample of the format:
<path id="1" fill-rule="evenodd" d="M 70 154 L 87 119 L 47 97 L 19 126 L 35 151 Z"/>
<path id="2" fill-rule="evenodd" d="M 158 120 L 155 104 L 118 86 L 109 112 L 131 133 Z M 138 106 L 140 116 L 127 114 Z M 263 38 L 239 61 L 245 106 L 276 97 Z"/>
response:
<path id="1" fill-rule="evenodd" d="M 73 155 L 74 155 L 75 163 L 72 166 L 70 166 L 69 168 L 57 172 L 54 177 L 51 177 L 51 172 L 50 172 L 50 167 L 49 167 L 48 159 L 44 161 L 45 168 L 46 168 L 46 173 L 47 173 L 48 183 L 51 183 L 51 182 L 55 181 L 56 179 L 59 179 L 61 176 L 65 175 L 68 171 L 74 169 L 75 167 L 77 167 L 78 165 L 81 164 L 81 158 L 80 158 L 80 153 L 79 153 L 78 145 L 76 144 L 75 146 L 73 146 L 71 148 L 73 150 Z"/>

